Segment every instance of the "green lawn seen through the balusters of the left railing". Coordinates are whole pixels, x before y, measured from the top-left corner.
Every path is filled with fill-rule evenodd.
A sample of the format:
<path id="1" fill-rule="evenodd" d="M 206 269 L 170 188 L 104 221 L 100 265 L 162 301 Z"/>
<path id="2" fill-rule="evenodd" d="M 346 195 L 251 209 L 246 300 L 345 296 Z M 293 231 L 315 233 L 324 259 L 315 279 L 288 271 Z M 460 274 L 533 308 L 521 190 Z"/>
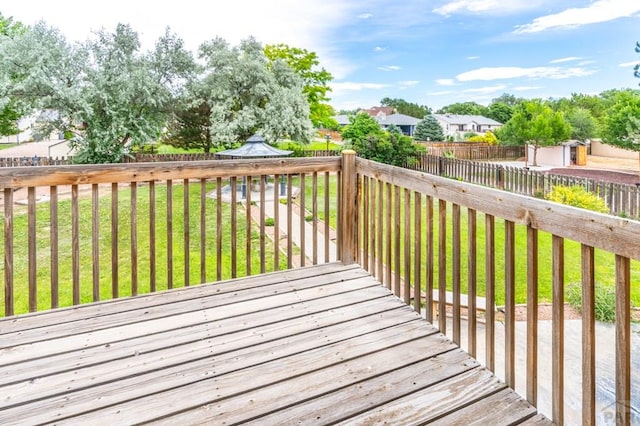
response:
<path id="1" fill-rule="evenodd" d="M 184 187 L 173 186 L 173 287 L 184 285 Z M 215 189 L 215 182 L 207 184 L 207 192 Z M 150 290 L 150 237 L 149 237 L 149 186 L 140 185 L 137 195 L 137 244 L 138 244 L 138 293 Z M 101 192 L 102 194 L 102 192 Z M 111 298 L 111 192 L 104 191 L 100 198 L 99 246 L 100 246 L 100 298 Z M 200 282 L 200 185 L 189 186 L 189 279 L 190 284 Z M 92 301 L 92 242 L 91 242 L 91 199 L 83 197 L 79 203 L 80 228 L 80 284 L 81 301 Z M 216 279 L 216 200 L 206 199 L 206 281 Z M 24 209 L 24 208 L 22 208 Z M 128 189 L 118 193 L 118 278 L 120 296 L 131 294 L 131 196 Z M 157 289 L 167 288 L 167 191 L 166 186 L 156 185 L 156 276 Z M 16 313 L 26 312 L 28 307 L 28 256 L 27 256 L 27 215 L 26 211 L 18 211 L 14 219 L 14 294 Z M 59 203 L 59 279 L 60 306 L 72 304 L 72 236 L 71 236 L 71 201 Z M 246 275 L 246 216 L 244 208 L 238 208 L 237 232 L 237 275 Z M 231 278 L 231 206 L 222 203 L 223 247 L 222 278 Z M 36 246 L 37 246 L 37 285 L 38 309 L 47 309 L 51 303 L 50 293 L 50 215 L 49 203 L 37 206 Z M 4 225 L 3 225 L 4 226 Z M 260 235 L 257 227 L 252 229 L 252 273 L 260 271 Z M 0 247 L 4 255 L 4 245 Z M 273 245 L 266 242 L 266 269 L 273 270 Z M 286 257 L 280 257 L 280 266 L 286 266 Z M 4 271 L 4 264 L 0 265 Z M 3 274 L 4 272 L 1 272 Z M 4 286 L 0 287 L 0 315 L 4 313 Z"/>

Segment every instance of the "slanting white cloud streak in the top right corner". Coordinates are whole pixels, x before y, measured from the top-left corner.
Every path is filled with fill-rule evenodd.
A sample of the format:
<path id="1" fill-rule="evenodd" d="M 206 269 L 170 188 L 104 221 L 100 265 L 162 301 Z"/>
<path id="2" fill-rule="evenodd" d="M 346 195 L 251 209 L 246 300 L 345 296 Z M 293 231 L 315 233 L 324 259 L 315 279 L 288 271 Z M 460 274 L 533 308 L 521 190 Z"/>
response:
<path id="1" fill-rule="evenodd" d="M 514 33 L 537 33 L 547 30 L 571 29 L 626 18 L 640 12 L 640 2 L 631 0 L 596 0 L 586 7 L 565 9 L 541 16 L 525 25 L 516 25 Z"/>

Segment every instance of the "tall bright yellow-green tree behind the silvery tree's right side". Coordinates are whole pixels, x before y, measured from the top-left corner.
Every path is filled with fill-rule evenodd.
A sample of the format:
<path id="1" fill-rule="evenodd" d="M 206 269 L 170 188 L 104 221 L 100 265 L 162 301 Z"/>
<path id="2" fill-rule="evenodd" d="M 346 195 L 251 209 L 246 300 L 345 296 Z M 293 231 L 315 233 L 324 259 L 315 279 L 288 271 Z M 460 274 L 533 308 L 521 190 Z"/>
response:
<path id="1" fill-rule="evenodd" d="M 324 68 L 318 68 L 320 61 L 317 55 L 286 44 L 268 44 L 264 47 L 264 54 L 271 62 L 283 60 L 302 78 L 303 92 L 309 102 L 309 114 L 313 125 L 318 128 L 335 128 L 335 111 L 326 103 L 329 101 L 327 94 L 331 91 L 328 83 L 333 80 L 333 76 Z"/>

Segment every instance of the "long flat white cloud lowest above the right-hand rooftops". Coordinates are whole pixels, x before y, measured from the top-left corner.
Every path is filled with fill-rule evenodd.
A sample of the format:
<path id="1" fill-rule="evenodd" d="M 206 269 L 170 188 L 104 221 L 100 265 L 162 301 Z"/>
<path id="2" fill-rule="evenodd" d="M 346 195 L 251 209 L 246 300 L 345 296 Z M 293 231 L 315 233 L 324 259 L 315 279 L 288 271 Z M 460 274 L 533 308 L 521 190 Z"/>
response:
<path id="1" fill-rule="evenodd" d="M 584 68 L 560 68 L 560 67 L 485 67 L 458 74 L 458 81 L 476 80 L 504 80 L 509 78 L 551 78 L 562 79 L 571 77 L 585 77 L 594 74 L 595 71 Z"/>

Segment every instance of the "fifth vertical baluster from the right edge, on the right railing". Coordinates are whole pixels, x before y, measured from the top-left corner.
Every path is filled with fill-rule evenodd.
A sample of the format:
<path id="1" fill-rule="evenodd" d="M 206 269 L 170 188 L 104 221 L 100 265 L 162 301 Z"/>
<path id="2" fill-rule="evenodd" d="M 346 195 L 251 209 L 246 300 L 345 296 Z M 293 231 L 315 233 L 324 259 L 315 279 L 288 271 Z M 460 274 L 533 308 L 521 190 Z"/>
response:
<path id="1" fill-rule="evenodd" d="M 516 387 L 516 227 L 504 222 L 504 286 L 505 286 L 505 381 Z"/>

